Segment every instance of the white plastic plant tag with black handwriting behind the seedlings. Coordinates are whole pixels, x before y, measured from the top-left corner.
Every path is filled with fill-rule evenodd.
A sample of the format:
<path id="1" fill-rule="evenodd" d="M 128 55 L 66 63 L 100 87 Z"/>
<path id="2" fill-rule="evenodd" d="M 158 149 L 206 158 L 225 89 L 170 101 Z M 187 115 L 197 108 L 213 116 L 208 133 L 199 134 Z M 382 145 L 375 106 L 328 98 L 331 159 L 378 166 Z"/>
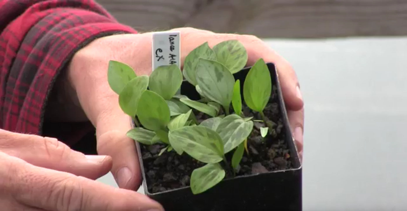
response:
<path id="1" fill-rule="evenodd" d="M 180 67 L 179 31 L 154 32 L 152 47 L 153 71 L 162 65 L 176 64 Z"/>

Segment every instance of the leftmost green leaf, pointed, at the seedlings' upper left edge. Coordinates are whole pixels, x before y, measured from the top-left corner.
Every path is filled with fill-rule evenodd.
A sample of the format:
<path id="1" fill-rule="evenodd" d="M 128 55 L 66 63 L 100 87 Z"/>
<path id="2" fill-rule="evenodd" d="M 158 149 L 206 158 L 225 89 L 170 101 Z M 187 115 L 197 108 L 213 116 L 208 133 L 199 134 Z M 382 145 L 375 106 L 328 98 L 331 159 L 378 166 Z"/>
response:
<path id="1" fill-rule="evenodd" d="M 114 60 L 109 61 L 107 82 L 115 93 L 119 95 L 126 84 L 133 78 L 136 78 L 136 73 L 129 65 Z"/>

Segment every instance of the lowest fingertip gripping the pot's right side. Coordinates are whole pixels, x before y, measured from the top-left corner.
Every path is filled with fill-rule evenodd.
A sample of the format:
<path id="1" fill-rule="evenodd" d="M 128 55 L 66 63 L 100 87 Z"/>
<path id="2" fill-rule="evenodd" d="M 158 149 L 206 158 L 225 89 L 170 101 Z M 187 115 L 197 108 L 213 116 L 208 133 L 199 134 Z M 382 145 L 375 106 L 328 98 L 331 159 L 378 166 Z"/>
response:
<path id="1" fill-rule="evenodd" d="M 288 110 L 288 118 L 293 132 L 293 138 L 297 146 L 298 154 L 302 159 L 304 149 L 303 131 L 304 131 L 304 108 L 298 111 Z"/>

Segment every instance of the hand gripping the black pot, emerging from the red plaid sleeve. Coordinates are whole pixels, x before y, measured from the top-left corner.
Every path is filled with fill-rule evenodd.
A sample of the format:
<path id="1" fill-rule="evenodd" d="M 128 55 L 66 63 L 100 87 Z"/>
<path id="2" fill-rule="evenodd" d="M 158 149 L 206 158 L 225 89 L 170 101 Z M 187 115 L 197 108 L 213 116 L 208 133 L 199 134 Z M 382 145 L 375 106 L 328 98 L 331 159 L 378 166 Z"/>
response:
<path id="1" fill-rule="evenodd" d="M 248 66 L 259 58 L 263 58 L 265 62 L 273 62 L 278 69 L 293 135 L 302 155 L 303 101 L 295 72 L 286 60 L 254 36 L 217 34 L 194 28 L 174 30 L 181 32 L 182 63 L 185 56 L 198 45 L 208 41 L 213 47 L 230 39 L 237 39 L 246 47 Z M 151 35 L 152 33 L 121 34 L 96 39 L 75 54 L 67 72 L 72 93 L 77 94 L 74 97 L 77 97 L 81 109 L 96 127 L 98 154 L 112 157 L 112 174 L 119 187 L 125 189 L 139 187 L 140 166 L 135 143 L 126 136 L 126 132 L 131 129 L 131 118 L 120 109 L 118 95 L 107 82 L 108 62 L 125 62 L 133 67 L 137 75 L 149 75 Z"/>

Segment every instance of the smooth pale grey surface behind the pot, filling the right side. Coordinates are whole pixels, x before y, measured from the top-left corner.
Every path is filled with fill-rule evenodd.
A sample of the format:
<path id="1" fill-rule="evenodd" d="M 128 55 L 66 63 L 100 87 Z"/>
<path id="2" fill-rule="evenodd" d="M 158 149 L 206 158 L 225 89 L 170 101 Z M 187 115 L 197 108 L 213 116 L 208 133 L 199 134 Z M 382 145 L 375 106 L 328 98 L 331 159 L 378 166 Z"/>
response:
<path id="1" fill-rule="evenodd" d="M 407 210 L 407 37 L 267 43 L 304 95 L 304 211 Z"/>

